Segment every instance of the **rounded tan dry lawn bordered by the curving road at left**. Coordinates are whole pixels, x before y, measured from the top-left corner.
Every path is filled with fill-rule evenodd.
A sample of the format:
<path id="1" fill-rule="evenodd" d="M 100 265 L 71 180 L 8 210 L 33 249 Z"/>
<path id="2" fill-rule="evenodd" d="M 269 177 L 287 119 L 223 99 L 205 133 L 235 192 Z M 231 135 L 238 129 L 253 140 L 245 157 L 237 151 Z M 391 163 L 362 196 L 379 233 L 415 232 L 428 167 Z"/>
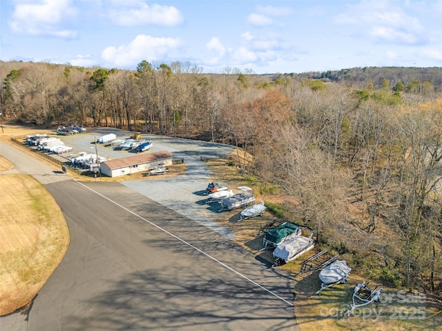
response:
<path id="1" fill-rule="evenodd" d="M 8 162 L 6 162 L 8 163 Z M 0 159 L 1 168 L 4 159 Z M 57 203 L 25 174 L 0 176 L 0 315 L 28 304 L 57 268 L 69 232 Z"/>

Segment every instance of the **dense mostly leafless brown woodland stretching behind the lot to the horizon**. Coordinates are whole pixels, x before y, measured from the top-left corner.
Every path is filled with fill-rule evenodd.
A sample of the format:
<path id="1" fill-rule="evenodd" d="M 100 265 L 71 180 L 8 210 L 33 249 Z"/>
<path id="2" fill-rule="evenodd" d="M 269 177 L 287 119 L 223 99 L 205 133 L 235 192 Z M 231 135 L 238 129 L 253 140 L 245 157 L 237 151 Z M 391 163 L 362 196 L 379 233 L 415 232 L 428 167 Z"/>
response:
<path id="1" fill-rule="evenodd" d="M 204 74 L 0 61 L 2 118 L 218 141 L 366 277 L 442 292 L 442 68 Z"/>

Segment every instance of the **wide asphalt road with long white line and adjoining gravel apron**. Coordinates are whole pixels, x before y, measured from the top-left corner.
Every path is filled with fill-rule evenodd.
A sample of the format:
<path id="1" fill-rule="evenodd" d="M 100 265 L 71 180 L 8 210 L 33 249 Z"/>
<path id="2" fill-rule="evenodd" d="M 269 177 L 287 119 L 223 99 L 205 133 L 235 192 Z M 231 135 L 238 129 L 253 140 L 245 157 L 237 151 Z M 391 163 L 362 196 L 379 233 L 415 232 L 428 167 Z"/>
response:
<path id="1" fill-rule="evenodd" d="M 184 177 L 128 185 L 78 183 L 5 144 L 0 154 L 45 184 L 70 230 L 30 310 L 1 317 L 1 331 L 297 330 L 292 280 L 211 228 L 191 154 Z"/>

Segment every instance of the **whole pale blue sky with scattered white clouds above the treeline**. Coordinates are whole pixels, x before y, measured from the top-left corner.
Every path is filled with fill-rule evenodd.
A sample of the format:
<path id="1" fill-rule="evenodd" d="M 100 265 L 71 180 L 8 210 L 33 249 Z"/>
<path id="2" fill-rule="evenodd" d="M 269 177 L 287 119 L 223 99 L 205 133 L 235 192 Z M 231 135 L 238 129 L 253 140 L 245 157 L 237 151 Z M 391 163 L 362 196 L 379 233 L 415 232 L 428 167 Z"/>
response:
<path id="1" fill-rule="evenodd" d="M 0 0 L 0 59 L 220 73 L 442 66 L 442 0 Z"/>

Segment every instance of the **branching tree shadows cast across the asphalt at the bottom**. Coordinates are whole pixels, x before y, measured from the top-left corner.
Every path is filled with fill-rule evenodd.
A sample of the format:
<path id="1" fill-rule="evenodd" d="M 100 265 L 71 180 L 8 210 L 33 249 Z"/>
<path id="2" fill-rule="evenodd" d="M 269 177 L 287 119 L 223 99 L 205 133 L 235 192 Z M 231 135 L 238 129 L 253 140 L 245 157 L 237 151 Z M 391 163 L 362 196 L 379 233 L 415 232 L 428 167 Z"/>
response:
<path id="1" fill-rule="evenodd" d="M 108 282 L 108 290 L 82 302 L 94 313 L 71 314 L 64 328 L 261 330 L 267 325 L 266 330 L 292 330 L 296 324 L 293 308 L 253 283 L 231 277 L 229 270 L 195 277 L 190 269 L 169 265 Z"/>

